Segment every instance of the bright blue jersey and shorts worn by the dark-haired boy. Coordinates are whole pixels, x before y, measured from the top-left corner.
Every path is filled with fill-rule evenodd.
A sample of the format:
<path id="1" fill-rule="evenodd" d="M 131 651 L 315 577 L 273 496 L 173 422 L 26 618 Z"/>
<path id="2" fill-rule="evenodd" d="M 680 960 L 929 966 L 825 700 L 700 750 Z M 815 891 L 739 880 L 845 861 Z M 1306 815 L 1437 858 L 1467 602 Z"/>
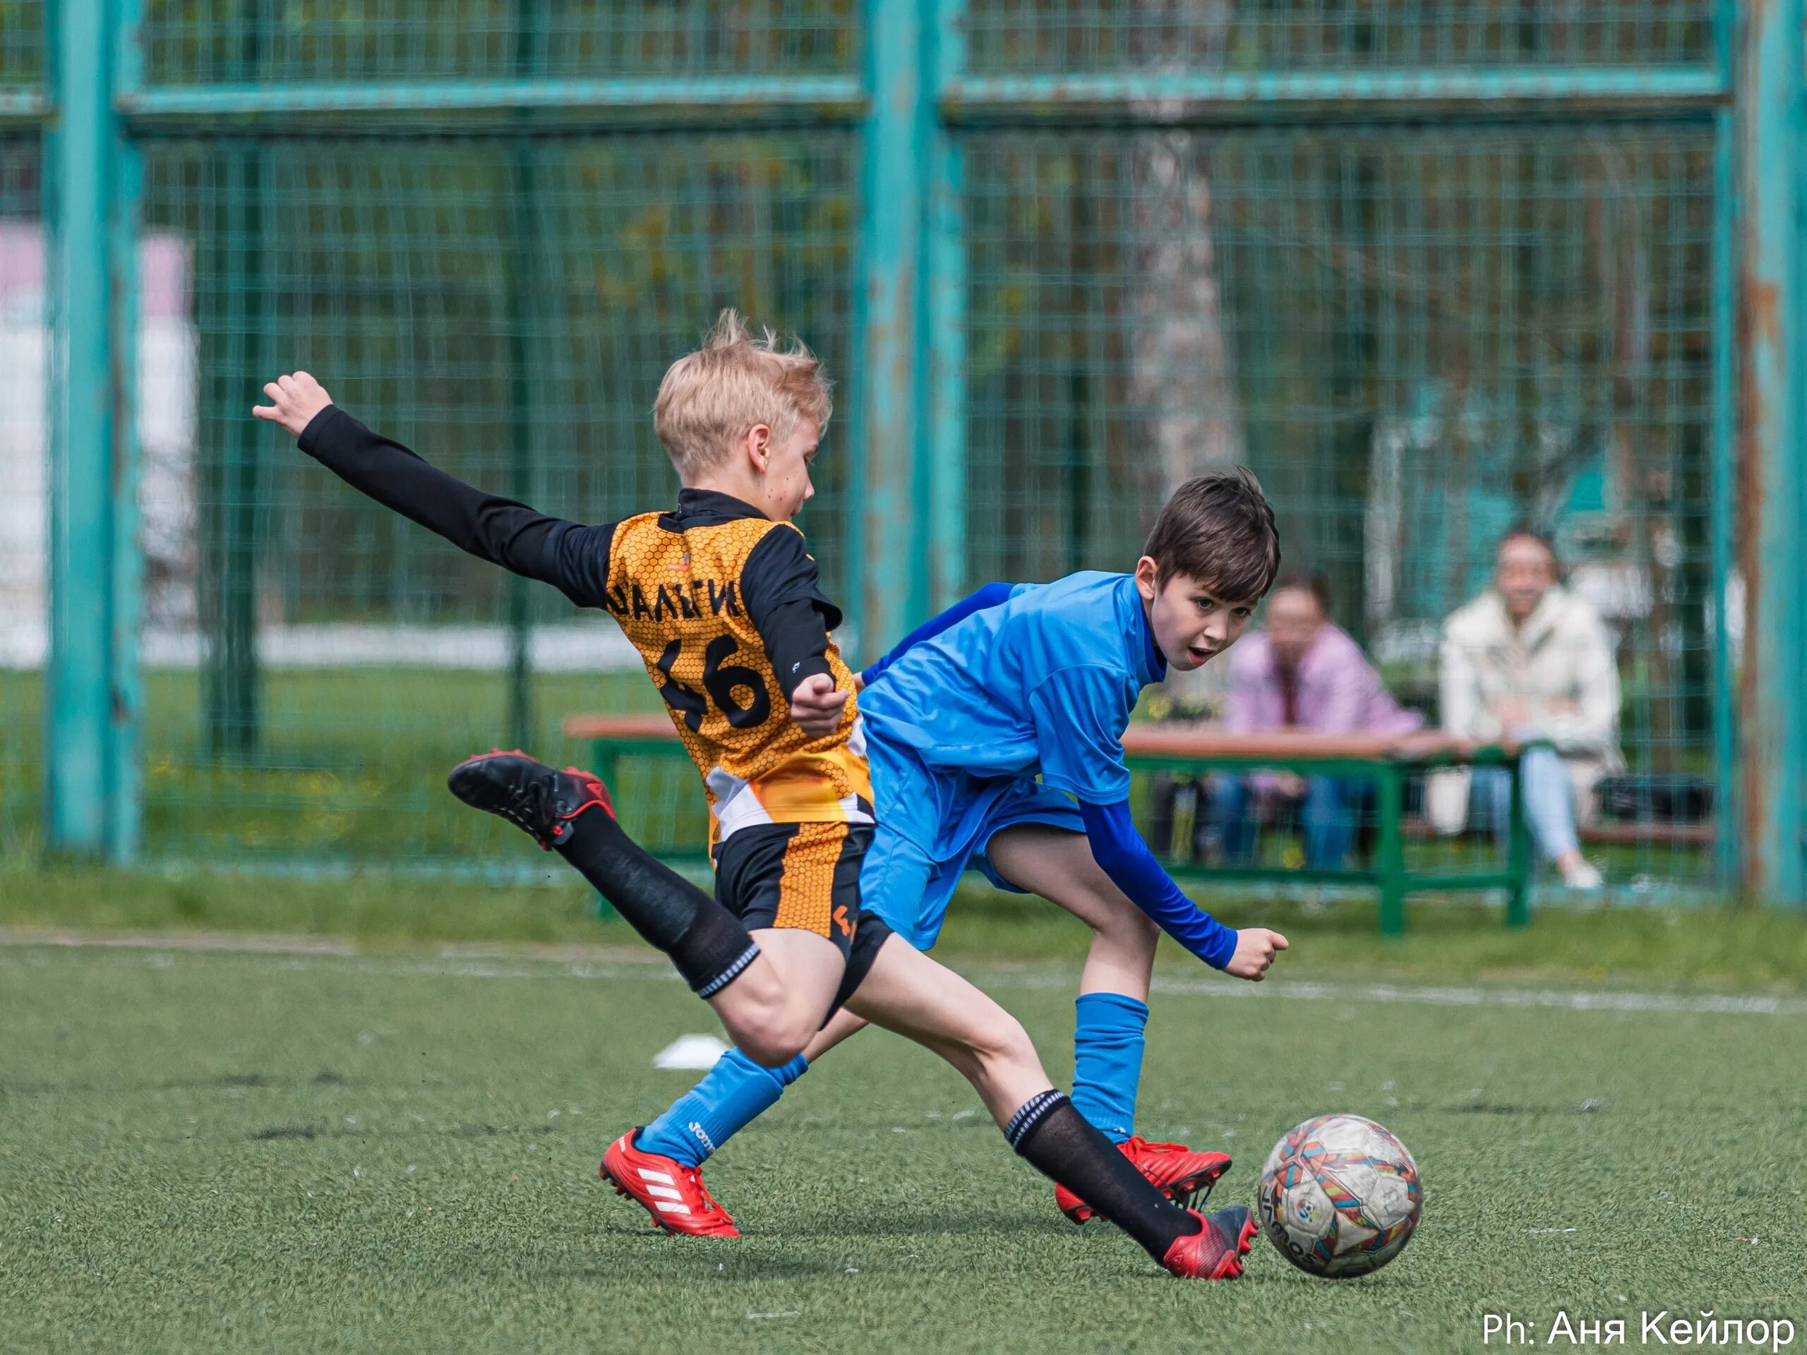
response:
<path id="1" fill-rule="evenodd" d="M 1222 968 L 1236 934 L 1200 912 L 1129 818 L 1122 734 L 1166 672 L 1133 575 L 1001 584 L 867 668 L 860 697 L 878 831 L 860 891 L 913 945 L 934 945 L 961 871 L 1003 880 L 999 829 L 1084 833 L 1104 873 L 1187 950 Z"/>

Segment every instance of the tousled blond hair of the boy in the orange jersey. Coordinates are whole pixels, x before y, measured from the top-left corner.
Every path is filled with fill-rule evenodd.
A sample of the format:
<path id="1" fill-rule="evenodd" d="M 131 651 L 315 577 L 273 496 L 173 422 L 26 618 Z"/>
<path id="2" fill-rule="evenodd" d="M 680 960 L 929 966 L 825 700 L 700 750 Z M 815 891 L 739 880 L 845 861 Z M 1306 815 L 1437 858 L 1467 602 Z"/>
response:
<path id="1" fill-rule="evenodd" d="M 782 441 L 802 419 L 826 428 L 833 410 L 831 383 L 813 352 L 802 343 L 781 347 L 770 329 L 754 334 L 739 311 L 723 311 L 703 347 L 667 369 L 652 432 L 688 479 L 721 463 L 755 425 Z"/>

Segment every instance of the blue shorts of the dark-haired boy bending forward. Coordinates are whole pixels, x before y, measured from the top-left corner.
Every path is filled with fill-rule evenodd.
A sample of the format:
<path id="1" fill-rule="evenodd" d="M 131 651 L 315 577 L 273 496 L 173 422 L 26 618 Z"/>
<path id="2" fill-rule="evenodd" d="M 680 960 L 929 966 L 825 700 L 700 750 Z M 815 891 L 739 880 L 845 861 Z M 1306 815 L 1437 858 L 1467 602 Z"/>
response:
<path id="1" fill-rule="evenodd" d="M 985 849 L 1017 824 L 1084 833 L 1072 797 L 1032 777 L 969 777 L 927 768 L 909 750 L 867 735 L 878 827 L 860 867 L 860 907 L 918 950 L 931 950 L 963 871 L 1025 892 L 997 874 Z"/>

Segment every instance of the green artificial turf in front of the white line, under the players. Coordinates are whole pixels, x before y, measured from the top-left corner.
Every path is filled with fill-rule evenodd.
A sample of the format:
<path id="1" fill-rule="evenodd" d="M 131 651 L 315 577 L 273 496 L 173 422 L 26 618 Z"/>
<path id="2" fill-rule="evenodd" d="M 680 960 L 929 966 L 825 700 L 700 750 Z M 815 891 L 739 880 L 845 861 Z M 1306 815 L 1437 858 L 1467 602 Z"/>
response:
<path id="1" fill-rule="evenodd" d="M 978 967 L 1059 1082 L 1072 965 Z M 1807 1012 L 1565 1010 L 1185 970 L 1153 1136 L 1220 1200 L 1328 1109 L 1417 1153 L 1424 1225 L 1325 1283 L 1182 1285 L 1073 1229 L 958 1077 L 866 1033 L 708 1169 L 739 1241 L 596 1182 L 708 1014 L 654 963 L 0 948 L 0 1350 L 1453 1351 L 1511 1310 L 1807 1324 Z M 1352 974 L 1352 979 L 1362 976 Z M 1258 990 L 1241 988 L 1243 994 Z M 1771 1005 L 1776 1006 L 1774 1003 Z M 1498 1339 L 1494 1341 L 1498 1344 Z"/>

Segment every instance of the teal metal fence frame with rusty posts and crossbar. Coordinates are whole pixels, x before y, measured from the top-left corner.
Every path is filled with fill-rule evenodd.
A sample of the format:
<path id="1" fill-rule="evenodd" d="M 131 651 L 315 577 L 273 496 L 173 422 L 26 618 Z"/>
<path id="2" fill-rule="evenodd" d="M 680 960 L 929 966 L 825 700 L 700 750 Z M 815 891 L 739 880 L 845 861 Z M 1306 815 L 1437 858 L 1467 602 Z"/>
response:
<path id="1" fill-rule="evenodd" d="M 1803 0 L 1717 0 L 1700 67 L 988 76 L 963 0 L 862 0 L 862 76 L 276 81 L 152 87 L 141 0 L 51 0 L 49 89 L 0 92 L 38 126 L 54 313 L 45 829 L 52 849 L 137 853 L 134 238 L 139 146 L 199 126 L 857 128 L 851 596 L 866 636 L 963 591 L 965 302 L 960 132 L 1428 119 L 1675 119 L 1715 128 L 1713 690 L 1720 878 L 1807 905 L 1807 350 L 1796 220 Z M 1733 696 L 1726 582 L 1747 580 Z"/>

